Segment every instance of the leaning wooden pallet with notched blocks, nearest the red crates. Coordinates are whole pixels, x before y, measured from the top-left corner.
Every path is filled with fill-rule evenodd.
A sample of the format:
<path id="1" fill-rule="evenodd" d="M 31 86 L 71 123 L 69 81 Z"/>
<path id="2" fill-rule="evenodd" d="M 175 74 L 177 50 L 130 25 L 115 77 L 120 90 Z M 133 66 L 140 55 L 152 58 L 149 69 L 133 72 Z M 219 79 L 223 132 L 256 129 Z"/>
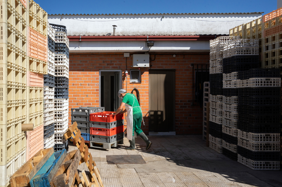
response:
<path id="1" fill-rule="evenodd" d="M 85 141 L 83 137 L 81 137 L 81 132 L 77 128 L 77 123 L 74 122 L 67 130 L 67 132 L 64 134 L 64 137 L 68 140 L 70 138 L 73 139 L 73 144 L 77 146 L 81 153 L 81 160 L 79 164 L 85 162 L 86 166 L 89 170 L 89 179 L 85 174 L 83 174 L 83 178 L 81 178 L 81 183 L 84 187 L 91 187 L 91 185 L 94 185 L 96 187 L 104 187 L 100 172 L 98 168 L 96 167 L 96 163 L 93 161 L 91 153 L 89 153 L 88 146 L 85 145 Z"/>

